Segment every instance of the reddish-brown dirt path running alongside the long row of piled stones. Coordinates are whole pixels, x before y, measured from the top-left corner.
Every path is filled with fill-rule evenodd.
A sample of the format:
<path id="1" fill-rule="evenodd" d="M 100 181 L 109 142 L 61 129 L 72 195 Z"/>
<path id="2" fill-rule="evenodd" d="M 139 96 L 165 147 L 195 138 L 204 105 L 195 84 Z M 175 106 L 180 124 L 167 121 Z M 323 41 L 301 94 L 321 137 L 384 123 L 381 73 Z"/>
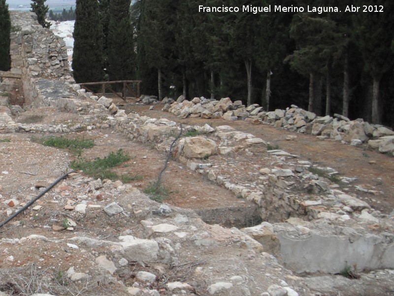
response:
<path id="1" fill-rule="evenodd" d="M 150 106 L 136 105 L 133 102 L 120 108 L 124 108 L 127 112 L 134 111 L 140 115 L 156 118 L 163 117 L 190 125 L 204 125 L 205 123 L 209 123 L 212 126 L 230 125 L 238 131 L 251 133 L 258 138 L 262 138 L 274 147 L 279 146 L 279 148 L 291 154 L 296 154 L 299 156 L 299 159 L 308 160 L 321 167 L 333 168 L 339 172 L 340 176 L 357 178 L 355 182 L 347 186 L 348 192 L 354 192 L 359 198 L 364 199 L 371 207 L 382 213 L 387 214 L 394 210 L 394 158 L 378 151 L 367 150 L 365 145 L 353 147 L 334 140 L 321 140 L 312 135 L 297 134 L 270 125 L 255 125 L 242 120 L 179 119 L 172 113 L 162 111 L 163 105 L 160 104 L 154 106 L 153 110 L 149 110 Z M 292 141 L 286 140 L 286 137 L 289 135 L 295 135 L 296 139 Z M 242 164 L 239 163 L 238 165 Z M 245 170 L 239 167 L 239 173 L 242 174 L 243 171 Z M 247 180 L 247 176 L 241 175 L 240 178 Z M 377 192 L 374 194 L 363 192 L 357 190 L 355 186 L 361 186 Z"/>

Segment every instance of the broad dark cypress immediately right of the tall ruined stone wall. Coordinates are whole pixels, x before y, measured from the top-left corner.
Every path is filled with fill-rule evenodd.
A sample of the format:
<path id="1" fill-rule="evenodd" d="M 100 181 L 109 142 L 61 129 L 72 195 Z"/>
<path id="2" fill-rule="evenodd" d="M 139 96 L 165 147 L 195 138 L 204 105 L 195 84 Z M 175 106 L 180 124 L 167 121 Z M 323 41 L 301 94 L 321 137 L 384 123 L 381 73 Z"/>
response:
<path id="1" fill-rule="evenodd" d="M 101 81 L 102 27 L 98 21 L 99 3 L 96 0 L 77 0 L 75 13 L 72 54 L 74 79 L 77 83 Z"/>

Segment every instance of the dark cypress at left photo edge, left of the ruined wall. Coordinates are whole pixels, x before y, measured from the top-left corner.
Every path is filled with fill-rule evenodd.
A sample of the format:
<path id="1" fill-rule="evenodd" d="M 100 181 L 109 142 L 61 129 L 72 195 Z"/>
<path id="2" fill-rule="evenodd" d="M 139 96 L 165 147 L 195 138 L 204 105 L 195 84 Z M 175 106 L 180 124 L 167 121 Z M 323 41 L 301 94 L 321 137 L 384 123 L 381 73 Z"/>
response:
<path id="1" fill-rule="evenodd" d="M 8 71 L 11 67 L 9 55 L 11 21 L 9 17 L 8 4 L 0 0 L 0 70 Z"/>

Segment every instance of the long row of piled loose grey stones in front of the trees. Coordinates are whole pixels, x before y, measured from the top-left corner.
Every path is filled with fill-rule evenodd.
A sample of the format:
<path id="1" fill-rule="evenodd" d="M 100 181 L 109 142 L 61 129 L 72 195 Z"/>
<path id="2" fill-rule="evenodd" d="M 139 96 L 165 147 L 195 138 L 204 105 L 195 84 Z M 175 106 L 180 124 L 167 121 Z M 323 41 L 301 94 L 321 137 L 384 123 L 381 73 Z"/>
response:
<path id="1" fill-rule="evenodd" d="M 157 100 L 145 100 L 144 104 L 157 103 Z M 177 101 L 164 98 L 163 111 L 171 112 L 179 118 L 223 118 L 225 120 L 248 120 L 253 123 L 270 124 L 283 127 L 292 132 L 312 134 L 321 139 L 334 139 L 353 146 L 368 144 L 368 148 L 378 149 L 382 153 L 394 155 L 394 131 L 378 124 L 369 124 L 362 119 L 350 120 L 340 114 L 316 116 L 292 105 L 286 110 L 264 111 L 263 107 L 253 104 L 249 107 L 241 101 L 232 102 L 230 98 L 219 101 L 204 97 L 191 101 L 180 96 Z"/>

